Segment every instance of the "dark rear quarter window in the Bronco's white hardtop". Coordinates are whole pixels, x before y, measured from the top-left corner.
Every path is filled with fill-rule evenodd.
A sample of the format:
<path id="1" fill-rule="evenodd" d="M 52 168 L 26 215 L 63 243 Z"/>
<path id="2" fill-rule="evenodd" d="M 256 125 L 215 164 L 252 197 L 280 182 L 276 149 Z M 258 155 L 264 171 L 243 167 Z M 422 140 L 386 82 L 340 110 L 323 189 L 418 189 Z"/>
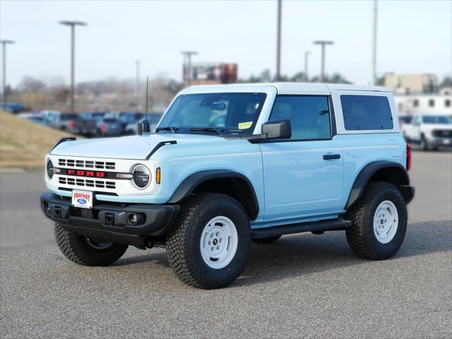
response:
<path id="1" fill-rule="evenodd" d="M 393 129 L 393 117 L 387 97 L 341 95 L 340 103 L 347 131 Z"/>

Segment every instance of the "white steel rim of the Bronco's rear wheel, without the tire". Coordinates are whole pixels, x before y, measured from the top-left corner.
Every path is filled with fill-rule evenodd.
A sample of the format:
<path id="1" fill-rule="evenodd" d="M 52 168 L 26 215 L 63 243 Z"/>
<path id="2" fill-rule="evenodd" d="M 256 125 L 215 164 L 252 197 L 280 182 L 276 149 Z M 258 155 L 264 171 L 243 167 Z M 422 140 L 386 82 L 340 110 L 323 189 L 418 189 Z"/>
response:
<path id="1" fill-rule="evenodd" d="M 394 239 L 398 227 L 396 205 L 385 200 L 379 204 L 374 214 L 374 234 L 381 244 L 388 244 Z"/>

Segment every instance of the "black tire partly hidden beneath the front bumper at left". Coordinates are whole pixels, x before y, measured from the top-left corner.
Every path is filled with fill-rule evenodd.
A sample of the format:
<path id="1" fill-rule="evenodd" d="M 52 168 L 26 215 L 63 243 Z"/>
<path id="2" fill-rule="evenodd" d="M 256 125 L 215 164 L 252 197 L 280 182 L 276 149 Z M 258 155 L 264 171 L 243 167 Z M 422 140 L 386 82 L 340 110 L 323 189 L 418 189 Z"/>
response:
<path id="1" fill-rule="evenodd" d="M 126 252 L 127 245 L 112 244 L 107 249 L 95 249 L 80 234 L 65 230 L 55 222 L 55 238 L 61 252 L 74 263 L 83 266 L 108 266 Z"/>

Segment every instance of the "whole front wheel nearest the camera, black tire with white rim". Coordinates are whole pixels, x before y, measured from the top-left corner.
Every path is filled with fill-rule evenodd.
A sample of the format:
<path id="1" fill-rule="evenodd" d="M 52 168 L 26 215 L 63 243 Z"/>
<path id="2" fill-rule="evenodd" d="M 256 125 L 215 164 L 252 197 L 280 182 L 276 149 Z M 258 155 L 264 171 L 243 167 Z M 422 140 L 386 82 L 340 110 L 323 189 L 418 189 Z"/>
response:
<path id="1" fill-rule="evenodd" d="M 225 194 L 201 193 L 182 205 L 167 237 L 167 257 L 187 285 L 230 285 L 242 273 L 251 237 L 242 205 Z"/>

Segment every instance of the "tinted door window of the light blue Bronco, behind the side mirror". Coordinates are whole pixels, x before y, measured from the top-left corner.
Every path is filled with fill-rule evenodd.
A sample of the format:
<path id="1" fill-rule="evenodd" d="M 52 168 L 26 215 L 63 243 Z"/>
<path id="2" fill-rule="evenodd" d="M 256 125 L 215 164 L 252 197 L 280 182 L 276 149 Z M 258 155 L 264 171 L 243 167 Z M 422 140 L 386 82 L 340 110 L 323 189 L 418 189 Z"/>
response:
<path id="1" fill-rule="evenodd" d="M 328 97 L 281 95 L 276 97 L 270 120 L 290 120 L 292 140 L 331 138 Z"/>

